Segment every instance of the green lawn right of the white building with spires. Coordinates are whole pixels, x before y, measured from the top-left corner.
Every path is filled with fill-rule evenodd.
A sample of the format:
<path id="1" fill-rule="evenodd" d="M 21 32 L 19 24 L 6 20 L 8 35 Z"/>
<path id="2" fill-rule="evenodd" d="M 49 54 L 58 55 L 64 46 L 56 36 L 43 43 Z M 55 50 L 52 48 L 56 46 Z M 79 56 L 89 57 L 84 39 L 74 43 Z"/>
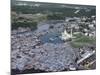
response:
<path id="1" fill-rule="evenodd" d="M 84 35 L 77 35 L 75 39 L 71 41 L 71 46 L 75 48 L 80 48 L 83 46 L 87 46 L 89 44 L 95 44 L 96 38 L 95 37 L 89 37 Z"/>

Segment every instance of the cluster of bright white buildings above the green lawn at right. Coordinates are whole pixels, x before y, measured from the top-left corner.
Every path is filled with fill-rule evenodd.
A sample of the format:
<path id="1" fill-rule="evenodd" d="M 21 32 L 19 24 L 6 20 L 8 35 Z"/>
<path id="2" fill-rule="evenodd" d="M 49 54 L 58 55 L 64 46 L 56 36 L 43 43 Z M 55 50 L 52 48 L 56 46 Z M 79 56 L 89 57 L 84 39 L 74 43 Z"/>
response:
<path id="1" fill-rule="evenodd" d="M 85 36 L 95 37 L 96 36 L 96 17 L 66 17 L 66 28 L 73 29 L 73 34 L 82 33 Z"/>

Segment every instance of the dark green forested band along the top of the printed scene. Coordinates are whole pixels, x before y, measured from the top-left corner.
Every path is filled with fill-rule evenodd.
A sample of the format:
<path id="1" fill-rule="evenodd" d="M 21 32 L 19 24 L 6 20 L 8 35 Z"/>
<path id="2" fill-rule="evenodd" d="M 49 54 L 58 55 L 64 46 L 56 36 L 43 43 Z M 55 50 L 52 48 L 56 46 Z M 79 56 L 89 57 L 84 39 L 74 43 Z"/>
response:
<path id="1" fill-rule="evenodd" d="M 96 14 L 96 6 L 88 5 L 73 5 L 73 4 L 58 4 L 30 1 L 15 1 L 12 2 L 12 11 L 24 14 L 62 14 L 64 16 L 91 16 Z M 75 11 L 79 11 L 75 14 Z"/>

